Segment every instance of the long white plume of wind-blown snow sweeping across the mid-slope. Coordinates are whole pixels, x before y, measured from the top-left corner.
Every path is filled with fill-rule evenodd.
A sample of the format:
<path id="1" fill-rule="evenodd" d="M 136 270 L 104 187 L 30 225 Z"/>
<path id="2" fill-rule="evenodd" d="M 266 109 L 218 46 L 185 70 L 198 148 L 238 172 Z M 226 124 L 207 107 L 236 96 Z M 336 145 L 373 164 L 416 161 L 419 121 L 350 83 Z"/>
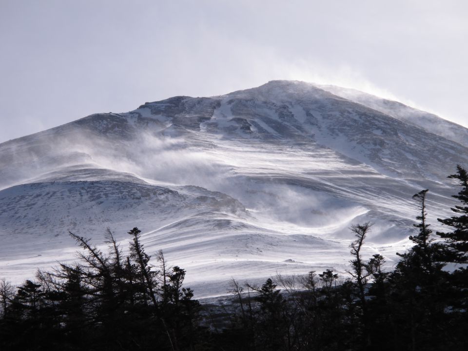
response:
<path id="1" fill-rule="evenodd" d="M 310 181 L 301 184 L 282 175 L 292 154 L 247 147 L 242 153 L 237 147 L 233 142 L 230 147 L 210 148 L 149 132 L 138 132 L 131 140 L 109 140 L 75 131 L 63 138 L 54 136 L 54 151 L 47 157 L 36 156 L 40 155 L 37 150 L 31 153 L 32 162 L 22 165 L 21 174 L 28 176 L 27 182 L 123 181 L 131 176 L 155 185 L 199 186 L 239 200 L 254 214 L 254 225 L 284 228 L 292 234 L 336 233 L 367 212 L 320 189 L 309 189 Z M 64 155 L 72 156 L 63 162 Z M 325 166 L 311 161 L 311 168 Z"/>

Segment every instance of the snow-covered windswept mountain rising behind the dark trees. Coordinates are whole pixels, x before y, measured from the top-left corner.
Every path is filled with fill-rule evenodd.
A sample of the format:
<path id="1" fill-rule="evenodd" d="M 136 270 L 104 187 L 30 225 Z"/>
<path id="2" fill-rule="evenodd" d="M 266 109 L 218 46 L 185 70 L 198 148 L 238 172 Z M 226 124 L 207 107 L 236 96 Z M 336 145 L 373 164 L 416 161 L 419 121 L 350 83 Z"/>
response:
<path id="1" fill-rule="evenodd" d="M 0 276 L 73 259 L 68 230 L 102 242 L 110 227 L 125 241 L 135 226 L 198 296 L 232 276 L 344 272 L 348 227 L 365 221 L 367 253 L 391 265 L 413 231 L 413 194 L 430 189 L 434 227 L 449 214 L 456 164 L 468 165 L 467 129 L 299 81 L 91 115 L 0 144 Z"/>

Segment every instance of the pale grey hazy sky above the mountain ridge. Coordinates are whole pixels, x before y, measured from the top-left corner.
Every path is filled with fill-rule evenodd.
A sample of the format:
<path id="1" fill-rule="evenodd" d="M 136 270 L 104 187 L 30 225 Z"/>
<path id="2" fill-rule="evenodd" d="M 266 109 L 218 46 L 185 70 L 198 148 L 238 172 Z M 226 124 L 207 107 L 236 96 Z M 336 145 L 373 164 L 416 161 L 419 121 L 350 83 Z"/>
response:
<path id="1" fill-rule="evenodd" d="M 0 0 L 0 142 L 272 79 L 468 126 L 466 0 Z"/>

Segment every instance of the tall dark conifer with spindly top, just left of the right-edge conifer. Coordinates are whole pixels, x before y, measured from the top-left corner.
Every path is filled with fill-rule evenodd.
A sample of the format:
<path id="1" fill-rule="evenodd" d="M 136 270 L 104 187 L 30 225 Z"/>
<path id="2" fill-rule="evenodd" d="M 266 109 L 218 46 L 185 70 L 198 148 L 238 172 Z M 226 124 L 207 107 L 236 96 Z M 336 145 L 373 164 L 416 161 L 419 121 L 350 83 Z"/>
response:
<path id="1" fill-rule="evenodd" d="M 426 213 L 428 190 L 413 195 L 418 202 L 419 221 L 413 226 L 416 235 L 409 236 L 414 245 L 404 254 L 390 274 L 392 287 L 393 322 L 405 325 L 399 341 L 408 342 L 411 350 L 426 348 L 432 350 L 436 344 L 430 342 L 431 335 L 442 328 L 444 310 L 447 307 L 447 273 L 440 262 L 442 245 L 431 237 Z"/>

